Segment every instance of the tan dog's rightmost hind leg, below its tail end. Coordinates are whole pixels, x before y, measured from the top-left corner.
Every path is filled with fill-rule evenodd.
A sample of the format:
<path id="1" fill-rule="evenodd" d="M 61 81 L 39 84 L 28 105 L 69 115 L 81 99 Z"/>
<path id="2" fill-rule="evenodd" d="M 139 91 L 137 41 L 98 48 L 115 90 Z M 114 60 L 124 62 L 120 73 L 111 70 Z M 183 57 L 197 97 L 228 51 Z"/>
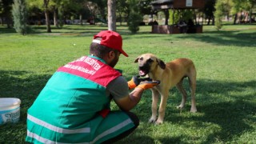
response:
<path id="1" fill-rule="evenodd" d="M 191 91 L 191 109 L 190 112 L 195 113 L 197 112 L 197 107 L 195 103 L 195 90 L 196 90 L 196 72 L 192 73 L 194 75 L 189 76 L 190 82 L 190 91 Z"/>

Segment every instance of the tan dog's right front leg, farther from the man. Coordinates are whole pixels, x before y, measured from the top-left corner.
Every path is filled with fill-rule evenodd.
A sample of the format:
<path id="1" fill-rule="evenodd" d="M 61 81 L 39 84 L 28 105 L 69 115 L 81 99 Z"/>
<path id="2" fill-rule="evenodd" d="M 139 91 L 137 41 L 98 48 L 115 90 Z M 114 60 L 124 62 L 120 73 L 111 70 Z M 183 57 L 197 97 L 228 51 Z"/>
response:
<path id="1" fill-rule="evenodd" d="M 155 122 L 156 125 L 162 124 L 166 113 L 166 104 L 168 98 L 168 90 L 161 94 L 161 102 L 158 110 L 158 120 Z"/>

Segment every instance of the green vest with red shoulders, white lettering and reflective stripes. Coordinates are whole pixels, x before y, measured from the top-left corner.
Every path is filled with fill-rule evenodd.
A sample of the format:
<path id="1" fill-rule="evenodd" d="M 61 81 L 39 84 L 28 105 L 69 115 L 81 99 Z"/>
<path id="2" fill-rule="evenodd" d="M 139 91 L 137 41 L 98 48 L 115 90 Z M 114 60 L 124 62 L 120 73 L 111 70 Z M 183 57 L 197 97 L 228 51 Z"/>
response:
<path id="1" fill-rule="evenodd" d="M 26 141 L 99 143 L 132 128 L 124 112 L 106 113 L 106 86 L 120 75 L 92 56 L 60 67 L 28 110 Z"/>

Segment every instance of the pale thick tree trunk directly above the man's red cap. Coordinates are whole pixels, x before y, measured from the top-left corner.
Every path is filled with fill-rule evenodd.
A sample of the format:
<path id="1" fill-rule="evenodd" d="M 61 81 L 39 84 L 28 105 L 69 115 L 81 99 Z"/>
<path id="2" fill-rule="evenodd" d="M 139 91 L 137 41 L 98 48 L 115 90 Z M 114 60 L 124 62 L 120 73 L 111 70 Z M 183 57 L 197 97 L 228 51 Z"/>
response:
<path id="1" fill-rule="evenodd" d="M 116 0 L 107 1 L 108 30 L 116 31 Z"/>

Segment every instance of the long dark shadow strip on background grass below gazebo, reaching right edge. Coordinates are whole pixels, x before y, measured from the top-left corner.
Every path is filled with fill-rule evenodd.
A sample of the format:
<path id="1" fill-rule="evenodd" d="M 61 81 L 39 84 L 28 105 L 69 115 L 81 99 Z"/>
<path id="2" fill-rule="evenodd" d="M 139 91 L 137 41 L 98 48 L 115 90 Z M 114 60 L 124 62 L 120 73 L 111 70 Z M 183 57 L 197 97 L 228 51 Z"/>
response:
<path id="1" fill-rule="evenodd" d="M 248 46 L 256 47 L 254 39 L 256 39 L 256 29 L 254 32 L 250 30 L 230 30 L 230 31 L 206 31 L 202 34 L 149 34 L 140 32 L 141 37 L 138 38 L 163 38 L 166 42 L 172 42 L 175 38 L 178 39 L 192 39 L 198 42 L 212 43 L 220 46 Z M 168 35 L 168 34 L 167 34 Z M 129 39 L 129 38 L 127 38 Z"/>

